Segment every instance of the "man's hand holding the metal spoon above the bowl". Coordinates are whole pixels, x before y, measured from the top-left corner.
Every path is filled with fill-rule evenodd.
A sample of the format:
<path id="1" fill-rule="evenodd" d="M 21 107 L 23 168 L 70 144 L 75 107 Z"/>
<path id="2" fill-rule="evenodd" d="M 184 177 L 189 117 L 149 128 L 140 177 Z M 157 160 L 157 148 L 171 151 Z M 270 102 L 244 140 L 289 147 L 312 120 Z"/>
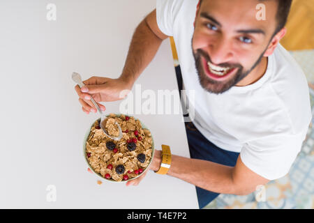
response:
<path id="1" fill-rule="evenodd" d="M 111 79 L 107 77 L 91 77 L 83 82 L 85 86 L 75 86 L 75 91 L 79 95 L 79 102 L 82 110 L 86 114 L 97 112 L 96 107 L 91 102 L 91 97 L 97 102 L 101 110 L 105 111 L 105 106 L 98 102 L 112 102 L 122 100 L 126 94 L 121 95 L 121 91 L 131 90 L 133 84 L 126 82 L 124 79 Z"/>

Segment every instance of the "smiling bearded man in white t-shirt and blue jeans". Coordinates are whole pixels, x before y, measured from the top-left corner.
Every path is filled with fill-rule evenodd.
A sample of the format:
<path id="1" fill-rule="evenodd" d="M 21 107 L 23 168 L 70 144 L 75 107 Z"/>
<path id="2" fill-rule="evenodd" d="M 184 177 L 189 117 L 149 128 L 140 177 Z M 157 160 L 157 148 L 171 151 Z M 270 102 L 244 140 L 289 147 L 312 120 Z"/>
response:
<path id="1" fill-rule="evenodd" d="M 260 3 L 266 20 L 257 20 Z M 91 77 L 86 87 L 75 86 L 83 111 L 96 112 L 90 95 L 98 102 L 121 100 L 119 93 L 132 89 L 160 43 L 173 36 L 184 89 L 195 90 L 195 119 L 186 123 L 191 159 L 172 155 L 167 174 L 196 186 L 200 208 L 219 193 L 254 192 L 287 174 L 311 122 L 304 73 L 279 44 L 290 5 L 157 0 L 135 30 L 121 76 Z M 160 162 L 156 151 L 151 169 Z"/>

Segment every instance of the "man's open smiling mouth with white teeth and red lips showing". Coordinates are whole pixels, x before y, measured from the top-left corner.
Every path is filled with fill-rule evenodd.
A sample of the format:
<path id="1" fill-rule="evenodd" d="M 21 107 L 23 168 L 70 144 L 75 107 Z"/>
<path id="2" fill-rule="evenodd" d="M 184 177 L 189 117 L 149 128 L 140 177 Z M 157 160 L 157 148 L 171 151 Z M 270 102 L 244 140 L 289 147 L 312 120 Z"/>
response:
<path id="1" fill-rule="evenodd" d="M 238 68 L 227 68 L 216 66 L 213 63 L 206 61 L 204 57 L 202 57 L 202 62 L 204 66 L 205 73 L 211 77 L 211 79 L 223 80 L 227 79 L 234 72 L 237 72 Z"/>

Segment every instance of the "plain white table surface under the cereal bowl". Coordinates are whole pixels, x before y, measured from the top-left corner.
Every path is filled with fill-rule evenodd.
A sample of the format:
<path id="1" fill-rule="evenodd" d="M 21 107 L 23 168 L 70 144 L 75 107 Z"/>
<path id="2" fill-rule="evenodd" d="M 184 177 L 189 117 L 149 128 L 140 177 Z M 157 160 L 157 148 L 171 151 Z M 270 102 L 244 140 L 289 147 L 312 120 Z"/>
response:
<path id="1" fill-rule="evenodd" d="M 48 3 L 56 21 L 46 19 Z M 137 187 L 98 185 L 82 154 L 98 115 L 82 112 L 71 74 L 119 77 L 135 27 L 154 8 L 154 0 L 0 1 L 0 208 L 198 208 L 194 185 L 152 171 Z M 168 40 L 136 84 L 177 89 Z M 104 105 L 119 112 L 119 103 Z M 156 148 L 189 157 L 181 115 L 135 116 Z M 47 201 L 48 185 L 56 201 Z"/>

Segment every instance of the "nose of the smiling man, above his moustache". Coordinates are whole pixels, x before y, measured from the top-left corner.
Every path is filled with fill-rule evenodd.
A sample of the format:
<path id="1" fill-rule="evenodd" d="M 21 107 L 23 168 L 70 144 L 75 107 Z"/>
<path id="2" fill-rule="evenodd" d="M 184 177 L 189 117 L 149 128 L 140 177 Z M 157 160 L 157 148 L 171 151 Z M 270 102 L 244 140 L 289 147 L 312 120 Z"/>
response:
<path id="1" fill-rule="evenodd" d="M 231 45 L 223 36 L 209 44 L 207 53 L 211 58 L 211 62 L 216 65 L 227 63 L 232 59 Z"/>

